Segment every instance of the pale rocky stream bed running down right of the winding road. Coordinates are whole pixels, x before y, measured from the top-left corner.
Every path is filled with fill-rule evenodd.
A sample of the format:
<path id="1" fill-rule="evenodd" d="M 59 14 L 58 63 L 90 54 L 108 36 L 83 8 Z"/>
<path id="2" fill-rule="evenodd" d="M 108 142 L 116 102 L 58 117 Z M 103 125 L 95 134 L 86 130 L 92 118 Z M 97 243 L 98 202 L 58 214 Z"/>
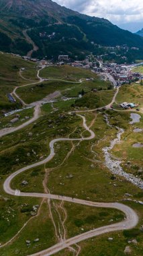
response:
<path id="1" fill-rule="evenodd" d="M 109 121 L 107 122 L 107 125 L 109 125 Z M 111 150 L 113 147 L 121 142 L 121 136 L 124 133 L 124 129 L 121 129 L 117 127 L 117 137 L 113 140 L 111 140 L 110 146 L 103 148 L 103 154 L 105 157 L 105 166 L 111 171 L 111 173 L 115 175 L 120 175 L 124 177 L 127 181 L 130 181 L 132 184 L 136 185 L 140 189 L 143 189 L 143 181 L 140 178 L 134 177 L 133 174 L 127 173 L 123 170 L 122 166 L 120 165 L 122 163 L 122 160 L 116 159 L 111 154 Z"/>

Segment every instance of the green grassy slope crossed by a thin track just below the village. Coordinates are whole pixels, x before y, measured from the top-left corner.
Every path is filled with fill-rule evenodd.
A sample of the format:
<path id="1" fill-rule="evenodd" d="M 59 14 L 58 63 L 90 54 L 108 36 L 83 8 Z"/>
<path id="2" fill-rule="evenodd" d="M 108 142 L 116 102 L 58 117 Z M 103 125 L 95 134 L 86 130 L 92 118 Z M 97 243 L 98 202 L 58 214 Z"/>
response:
<path id="1" fill-rule="evenodd" d="M 109 82 L 103 82 L 101 79 L 99 79 L 99 77 L 97 77 L 97 75 L 85 69 L 70 67 L 68 65 L 65 66 L 65 70 L 64 67 L 48 67 L 47 69 L 52 70 L 53 75 L 54 70 L 56 70 L 55 77 L 59 79 L 65 79 L 68 81 L 69 77 L 67 78 L 67 75 L 65 74 L 70 73 L 70 77 L 75 77 L 75 81 L 79 81 L 79 79 L 85 77 L 93 77 L 94 81 L 84 81 L 81 84 L 70 84 L 69 82 L 53 80 L 38 85 L 19 88 L 17 93 L 25 102 L 31 103 L 36 100 L 42 100 L 42 98 L 55 92 L 56 90 L 60 90 L 63 96 L 77 97 L 79 96 L 79 92 L 81 92 L 81 90 L 85 90 L 85 92 L 91 92 L 91 90 L 94 88 L 97 88 L 97 90 L 101 88 L 106 90 L 109 86 Z M 42 72 L 46 73 L 47 69 L 42 69 L 40 75 L 42 75 Z M 109 94 L 109 92 L 107 92 L 107 94 Z"/>

